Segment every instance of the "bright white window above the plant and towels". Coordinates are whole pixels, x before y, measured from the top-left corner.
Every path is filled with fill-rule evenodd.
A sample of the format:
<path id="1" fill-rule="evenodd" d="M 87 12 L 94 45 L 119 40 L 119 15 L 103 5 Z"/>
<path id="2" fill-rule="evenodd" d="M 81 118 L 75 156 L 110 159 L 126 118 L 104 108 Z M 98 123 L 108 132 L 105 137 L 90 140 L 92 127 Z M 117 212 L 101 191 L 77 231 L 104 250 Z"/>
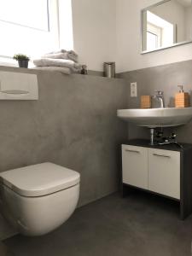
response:
<path id="1" fill-rule="evenodd" d="M 0 0 L 0 55 L 73 49 L 71 9 L 71 0 Z"/>

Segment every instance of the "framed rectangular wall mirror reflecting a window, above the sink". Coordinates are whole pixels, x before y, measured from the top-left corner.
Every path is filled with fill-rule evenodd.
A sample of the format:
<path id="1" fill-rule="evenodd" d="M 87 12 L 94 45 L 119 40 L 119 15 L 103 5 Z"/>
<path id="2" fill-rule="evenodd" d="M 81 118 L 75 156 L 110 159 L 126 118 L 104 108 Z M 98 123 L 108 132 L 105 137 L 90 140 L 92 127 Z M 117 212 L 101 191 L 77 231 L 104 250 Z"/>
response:
<path id="1" fill-rule="evenodd" d="M 165 0 L 142 10 L 142 54 L 192 42 L 191 0 Z"/>

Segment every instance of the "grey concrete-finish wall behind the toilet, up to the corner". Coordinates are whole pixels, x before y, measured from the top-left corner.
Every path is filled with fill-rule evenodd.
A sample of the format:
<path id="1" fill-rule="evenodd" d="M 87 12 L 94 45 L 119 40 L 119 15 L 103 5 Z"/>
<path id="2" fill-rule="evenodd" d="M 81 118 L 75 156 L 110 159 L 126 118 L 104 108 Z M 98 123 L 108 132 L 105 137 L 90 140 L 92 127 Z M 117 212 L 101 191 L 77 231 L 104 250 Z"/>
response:
<path id="1" fill-rule="evenodd" d="M 38 101 L 0 101 L 0 172 L 51 161 L 81 174 L 79 205 L 118 189 L 119 145 L 127 126 L 123 79 L 38 73 Z"/>

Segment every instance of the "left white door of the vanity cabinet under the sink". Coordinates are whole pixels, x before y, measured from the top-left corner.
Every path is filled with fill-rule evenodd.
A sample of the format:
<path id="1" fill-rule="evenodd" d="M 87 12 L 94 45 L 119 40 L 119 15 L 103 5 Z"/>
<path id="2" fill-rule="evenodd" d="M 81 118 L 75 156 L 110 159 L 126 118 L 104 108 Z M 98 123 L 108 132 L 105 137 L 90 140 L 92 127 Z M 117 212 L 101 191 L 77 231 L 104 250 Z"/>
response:
<path id="1" fill-rule="evenodd" d="M 122 145 L 123 183 L 148 189 L 148 148 Z"/>

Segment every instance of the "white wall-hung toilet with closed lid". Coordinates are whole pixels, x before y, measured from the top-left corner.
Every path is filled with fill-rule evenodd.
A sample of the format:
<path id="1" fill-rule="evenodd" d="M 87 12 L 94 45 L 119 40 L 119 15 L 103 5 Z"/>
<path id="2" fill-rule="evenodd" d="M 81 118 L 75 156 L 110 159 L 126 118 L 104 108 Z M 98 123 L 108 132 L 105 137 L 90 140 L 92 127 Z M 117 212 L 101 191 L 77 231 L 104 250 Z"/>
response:
<path id="1" fill-rule="evenodd" d="M 55 230 L 79 201 L 79 172 L 52 163 L 1 172 L 0 182 L 3 215 L 26 236 Z"/>

